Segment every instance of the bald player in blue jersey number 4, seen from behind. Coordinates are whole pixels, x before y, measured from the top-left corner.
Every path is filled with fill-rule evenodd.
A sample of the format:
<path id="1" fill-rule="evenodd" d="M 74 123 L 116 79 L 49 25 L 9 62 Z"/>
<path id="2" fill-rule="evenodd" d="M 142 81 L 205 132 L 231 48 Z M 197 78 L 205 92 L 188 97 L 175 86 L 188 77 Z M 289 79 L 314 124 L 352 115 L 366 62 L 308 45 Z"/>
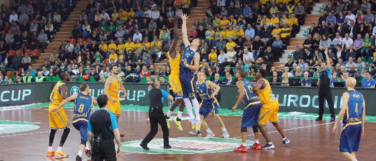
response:
<path id="1" fill-rule="evenodd" d="M 346 79 L 347 91 L 342 95 L 342 109 L 332 129 L 335 135 L 337 126 L 343 118 L 338 149 L 349 161 L 357 161 L 355 152 L 358 152 L 360 138 L 364 135 L 365 102 L 363 95 L 354 90 L 355 85 L 355 78 Z"/>

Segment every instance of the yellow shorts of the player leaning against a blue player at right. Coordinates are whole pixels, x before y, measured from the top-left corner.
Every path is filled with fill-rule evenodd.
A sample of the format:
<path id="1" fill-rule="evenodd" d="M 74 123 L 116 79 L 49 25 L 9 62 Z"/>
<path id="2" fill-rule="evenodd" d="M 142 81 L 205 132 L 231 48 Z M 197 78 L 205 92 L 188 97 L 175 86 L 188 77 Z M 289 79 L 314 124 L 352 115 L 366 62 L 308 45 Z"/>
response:
<path id="1" fill-rule="evenodd" d="M 274 101 L 274 102 L 262 105 L 257 124 L 264 126 L 267 122 L 270 122 L 270 123 L 278 122 L 278 117 L 277 117 L 278 109 L 279 109 L 278 101 Z"/>

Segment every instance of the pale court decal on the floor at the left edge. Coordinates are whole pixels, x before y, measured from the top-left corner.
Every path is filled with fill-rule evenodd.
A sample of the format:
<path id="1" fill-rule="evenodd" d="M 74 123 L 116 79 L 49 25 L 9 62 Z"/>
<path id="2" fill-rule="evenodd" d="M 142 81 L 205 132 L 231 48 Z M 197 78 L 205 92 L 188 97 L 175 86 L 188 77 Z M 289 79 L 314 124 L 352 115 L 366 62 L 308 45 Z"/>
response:
<path id="1" fill-rule="evenodd" d="M 0 134 L 24 132 L 39 129 L 39 126 L 34 124 L 36 123 L 0 120 Z"/>

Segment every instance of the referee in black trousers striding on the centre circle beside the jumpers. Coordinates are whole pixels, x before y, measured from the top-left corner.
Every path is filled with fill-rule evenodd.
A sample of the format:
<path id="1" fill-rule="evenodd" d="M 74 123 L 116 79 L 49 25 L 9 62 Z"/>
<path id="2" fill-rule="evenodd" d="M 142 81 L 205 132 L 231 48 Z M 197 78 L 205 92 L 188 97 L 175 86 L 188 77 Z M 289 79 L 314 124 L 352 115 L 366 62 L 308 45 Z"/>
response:
<path id="1" fill-rule="evenodd" d="M 172 101 L 174 98 L 168 94 L 165 90 L 159 89 L 160 84 L 156 80 L 152 80 L 152 84 L 148 88 L 149 92 L 149 120 L 150 120 L 150 132 L 146 135 L 144 140 L 141 142 L 140 146 L 149 150 L 147 144 L 154 138 L 155 134 L 158 132 L 158 123 L 161 125 L 163 131 L 163 148 L 171 149 L 171 146 L 168 141 L 168 127 L 166 118 L 162 111 L 164 98 Z"/>

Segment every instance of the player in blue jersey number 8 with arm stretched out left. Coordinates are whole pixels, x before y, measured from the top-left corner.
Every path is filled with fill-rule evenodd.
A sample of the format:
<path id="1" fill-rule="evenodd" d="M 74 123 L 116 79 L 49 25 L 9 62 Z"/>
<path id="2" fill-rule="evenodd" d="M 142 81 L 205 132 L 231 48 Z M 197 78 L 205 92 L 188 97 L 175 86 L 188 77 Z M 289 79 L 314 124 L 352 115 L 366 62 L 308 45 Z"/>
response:
<path id="1" fill-rule="evenodd" d="M 79 151 L 76 156 L 76 161 L 82 160 L 82 152 L 85 149 L 85 153 L 88 157 L 91 157 L 91 152 L 89 148 L 88 141 L 88 120 L 90 118 L 91 106 L 97 106 L 98 103 L 91 96 L 91 91 L 89 90 L 89 86 L 87 84 L 80 85 L 80 93 L 75 93 L 72 96 L 65 99 L 58 107 L 52 109 L 51 111 L 58 111 L 58 109 L 64 106 L 66 103 L 70 101 L 74 101 L 74 112 L 73 112 L 73 126 L 75 129 L 80 131 L 81 135 L 81 143 L 79 146 Z"/>

